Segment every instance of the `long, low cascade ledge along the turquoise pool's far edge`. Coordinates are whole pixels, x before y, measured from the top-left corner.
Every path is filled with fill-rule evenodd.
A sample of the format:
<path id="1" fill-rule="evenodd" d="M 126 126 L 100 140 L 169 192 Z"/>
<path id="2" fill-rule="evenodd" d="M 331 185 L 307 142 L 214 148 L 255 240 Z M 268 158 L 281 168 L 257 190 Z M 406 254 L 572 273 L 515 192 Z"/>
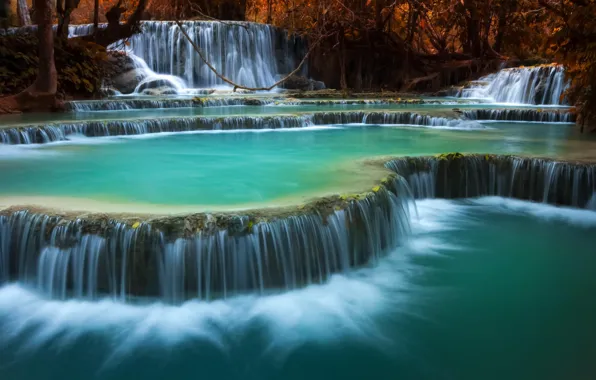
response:
<path id="1" fill-rule="evenodd" d="M 0 129 L 0 143 L 12 145 L 45 144 L 68 140 L 68 136 L 73 134 L 103 137 L 201 130 L 301 128 L 312 125 L 350 123 L 457 127 L 462 123 L 462 120 L 433 117 L 413 112 L 320 112 L 304 115 L 227 116 L 221 118 L 190 116 L 84 121 Z M 472 127 L 482 128 L 481 125 Z"/>

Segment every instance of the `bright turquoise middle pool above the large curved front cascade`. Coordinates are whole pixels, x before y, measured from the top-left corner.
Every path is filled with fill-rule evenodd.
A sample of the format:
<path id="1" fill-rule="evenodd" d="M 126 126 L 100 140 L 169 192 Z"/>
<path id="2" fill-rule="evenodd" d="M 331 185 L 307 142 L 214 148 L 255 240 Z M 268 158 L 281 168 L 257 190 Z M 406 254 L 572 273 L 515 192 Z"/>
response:
<path id="1" fill-rule="evenodd" d="M 78 138 L 6 146 L 0 194 L 170 205 L 239 205 L 366 189 L 373 156 L 437 152 L 565 153 L 565 124 L 486 123 L 482 130 L 355 126 Z M 373 173 L 374 174 L 374 173 Z"/>

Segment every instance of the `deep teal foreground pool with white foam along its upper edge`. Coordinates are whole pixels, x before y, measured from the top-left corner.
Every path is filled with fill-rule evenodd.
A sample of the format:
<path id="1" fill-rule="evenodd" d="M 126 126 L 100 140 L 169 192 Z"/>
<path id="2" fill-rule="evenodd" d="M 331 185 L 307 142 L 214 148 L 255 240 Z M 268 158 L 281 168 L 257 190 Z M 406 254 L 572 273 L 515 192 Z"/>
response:
<path id="1" fill-rule="evenodd" d="M 584 379 L 596 213 L 418 202 L 405 247 L 328 284 L 182 306 L 0 289 L 0 377 Z"/>

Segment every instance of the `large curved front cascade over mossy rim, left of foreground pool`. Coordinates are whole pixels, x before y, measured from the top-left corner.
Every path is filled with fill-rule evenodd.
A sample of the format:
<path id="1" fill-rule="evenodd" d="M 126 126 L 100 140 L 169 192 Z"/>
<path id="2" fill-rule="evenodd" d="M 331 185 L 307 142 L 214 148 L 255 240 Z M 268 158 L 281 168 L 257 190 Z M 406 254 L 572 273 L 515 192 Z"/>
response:
<path id="1" fill-rule="evenodd" d="M 179 303 L 322 283 L 394 249 L 409 230 L 403 181 L 279 217 L 195 214 L 124 223 L 0 214 L 0 283 L 48 296 Z M 335 204 L 335 206 L 333 206 Z M 262 212 L 257 214 L 263 215 Z"/>

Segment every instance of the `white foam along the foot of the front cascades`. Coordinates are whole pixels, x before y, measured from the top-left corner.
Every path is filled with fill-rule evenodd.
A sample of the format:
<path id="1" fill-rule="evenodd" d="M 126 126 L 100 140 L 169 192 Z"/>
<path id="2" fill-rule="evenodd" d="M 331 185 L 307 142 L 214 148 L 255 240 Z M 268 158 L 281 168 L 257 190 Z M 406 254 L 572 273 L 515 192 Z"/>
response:
<path id="1" fill-rule="evenodd" d="M 268 358 L 285 360 L 308 342 L 342 344 L 354 339 L 388 352 L 398 342 L 385 338 L 384 321 L 415 316 L 416 305 L 433 302 L 437 289 L 420 289 L 409 281 L 425 271 L 411 260 L 419 255 L 473 249 L 447 241 L 449 231 L 477 218 L 478 207 L 536 218 L 596 225 L 596 213 L 487 197 L 469 201 L 417 201 L 418 218 L 405 246 L 374 267 L 335 275 L 324 285 L 269 296 L 243 296 L 214 302 L 189 301 L 179 306 L 160 302 L 123 304 L 113 300 L 48 300 L 20 284 L 0 288 L 0 344 L 16 343 L 23 352 L 47 344 L 68 347 L 88 333 L 100 333 L 113 350 L 105 366 L 114 366 L 137 349 L 200 341 L 227 352 L 234 339 L 259 329 L 267 338 Z M 471 210 L 475 213 L 471 215 Z M 475 216 L 474 216 L 475 215 Z M 447 232 L 447 233 L 445 233 Z M 384 319 L 385 318 L 385 319 Z M 393 333 L 394 334 L 394 333 Z M 26 337 L 26 338 L 25 338 Z"/>

